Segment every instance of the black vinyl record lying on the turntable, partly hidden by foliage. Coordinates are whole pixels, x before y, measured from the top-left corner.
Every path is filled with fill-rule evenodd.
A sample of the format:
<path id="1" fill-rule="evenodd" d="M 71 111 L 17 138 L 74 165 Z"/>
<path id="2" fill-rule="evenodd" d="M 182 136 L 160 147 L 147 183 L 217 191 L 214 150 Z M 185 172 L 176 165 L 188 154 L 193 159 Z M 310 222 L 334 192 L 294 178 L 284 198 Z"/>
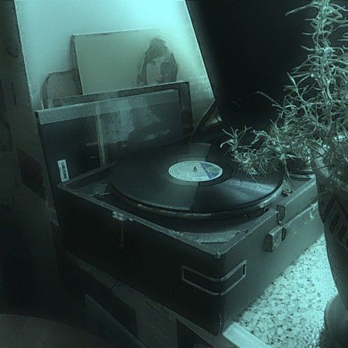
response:
<path id="1" fill-rule="evenodd" d="M 228 156 L 205 143 L 136 152 L 111 171 L 116 194 L 137 207 L 182 217 L 246 214 L 280 193 L 283 175 L 243 177 Z"/>

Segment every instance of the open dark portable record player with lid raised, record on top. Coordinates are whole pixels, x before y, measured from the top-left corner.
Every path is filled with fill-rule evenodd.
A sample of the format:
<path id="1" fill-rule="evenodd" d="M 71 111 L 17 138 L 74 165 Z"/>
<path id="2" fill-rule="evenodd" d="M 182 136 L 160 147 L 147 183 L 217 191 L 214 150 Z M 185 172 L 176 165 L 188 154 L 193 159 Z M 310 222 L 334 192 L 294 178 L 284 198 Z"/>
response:
<path id="1" fill-rule="evenodd" d="M 205 49 L 203 58 L 223 125 L 195 141 L 186 82 L 56 100 L 36 114 L 65 250 L 217 334 L 322 226 L 312 175 L 242 177 L 219 147 L 232 111 Z M 266 124 L 248 88 L 236 122 L 253 109 L 263 119 L 248 124 Z M 129 118 L 138 129 L 114 132 Z M 113 306 L 97 277 L 79 277 L 75 292 Z"/>

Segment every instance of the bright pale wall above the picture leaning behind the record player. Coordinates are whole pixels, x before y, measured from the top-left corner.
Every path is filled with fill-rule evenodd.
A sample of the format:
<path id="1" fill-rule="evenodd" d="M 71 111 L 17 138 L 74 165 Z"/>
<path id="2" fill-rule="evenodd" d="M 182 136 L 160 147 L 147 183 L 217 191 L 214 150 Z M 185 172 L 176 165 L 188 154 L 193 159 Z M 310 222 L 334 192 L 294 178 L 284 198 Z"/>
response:
<path id="1" fill-rule="evenodd" d="M 183 0 L 15 0 L 34 109 L 47 74 L 70 70 L 72 34 L 190 23 Z"/>

